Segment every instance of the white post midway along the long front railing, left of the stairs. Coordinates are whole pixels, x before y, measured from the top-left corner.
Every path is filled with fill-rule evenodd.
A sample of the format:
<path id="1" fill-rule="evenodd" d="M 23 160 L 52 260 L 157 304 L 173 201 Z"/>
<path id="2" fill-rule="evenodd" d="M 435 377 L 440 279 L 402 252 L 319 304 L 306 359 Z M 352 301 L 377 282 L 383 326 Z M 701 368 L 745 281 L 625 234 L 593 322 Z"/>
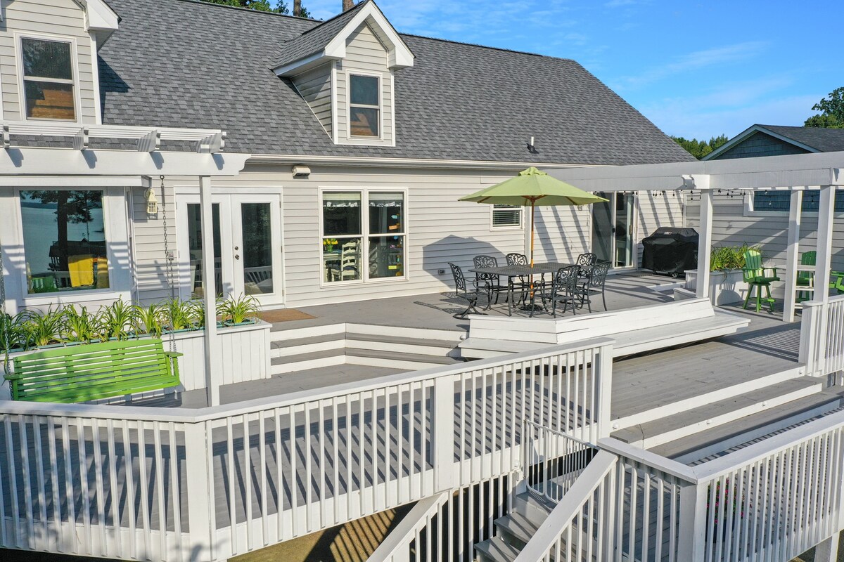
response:
<path id="1" fill-rule="evenodd" d="M 455 487 L 454 379 L 439 377 L 434 383 L 434 422 L 430 450 L 434 455 L 434 487 L 437 492 Z"/>

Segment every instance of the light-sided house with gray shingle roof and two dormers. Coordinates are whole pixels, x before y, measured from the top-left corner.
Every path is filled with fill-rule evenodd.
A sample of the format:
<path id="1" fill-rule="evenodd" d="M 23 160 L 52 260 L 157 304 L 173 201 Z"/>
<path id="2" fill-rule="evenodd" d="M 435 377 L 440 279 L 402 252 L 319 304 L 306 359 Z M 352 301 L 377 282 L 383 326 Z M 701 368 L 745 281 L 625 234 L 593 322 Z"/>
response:
<path id="1" fill-rule="evenodd" d="M 4 120 L 213 127 L 224 153 L 250 155 L 213 180 L 219 286 L 268 307 L 439 292 L 450 261 L 524 251 L 521 209 L 457 199 L 528 165 L 690 158 L 576 62 L 402 35 L 371 1 L 325 22 L 189 0 L 3 8 Z M 92 13 L 111 27 L 95 32 Z M 55 185 L 39 200 L 0 187 L 21 210 L 0 236 L 25 254 L 7 261 L 10 308 L 167 297 L 165 212 L 177 291 L 197 296 L 197 177 L 142 183 L 79 192 L 82 214 L 51 226 L 61 236 L 41 228 L 64 196 Z M 148 214 L 150 190 L 160 206 Z M 538 260 L 592 249 L 636 267 L 641 238 L 682 220 L 672 195 L 609 197 L 539 212 Z"/>

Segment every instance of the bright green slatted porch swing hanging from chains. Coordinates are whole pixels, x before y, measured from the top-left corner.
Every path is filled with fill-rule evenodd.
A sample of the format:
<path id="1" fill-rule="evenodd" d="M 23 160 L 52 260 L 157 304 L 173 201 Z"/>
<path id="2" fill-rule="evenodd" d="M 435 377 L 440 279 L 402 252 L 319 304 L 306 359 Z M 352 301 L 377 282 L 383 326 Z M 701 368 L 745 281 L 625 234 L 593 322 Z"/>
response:
<path id="1" fill-rule="evenodd" d="M 162 198 L 164 176 L 161 176 Z M 173 264 L 168 249 L 167 211 L 164 218 L 165 260 L 170 295 L 174 294 Z M 0 317 L 8 319 L 3 283 L 3 254 L 0 252 Z M 13 400 L 78 403 L 116 398 L 181 383 L 175 335 L 170 333 L 170 351 L 160 339 L 104 341 L 36 351 L 14 357 L 9 370 L 8 329 L 3 330 L 3 377 Z"/>

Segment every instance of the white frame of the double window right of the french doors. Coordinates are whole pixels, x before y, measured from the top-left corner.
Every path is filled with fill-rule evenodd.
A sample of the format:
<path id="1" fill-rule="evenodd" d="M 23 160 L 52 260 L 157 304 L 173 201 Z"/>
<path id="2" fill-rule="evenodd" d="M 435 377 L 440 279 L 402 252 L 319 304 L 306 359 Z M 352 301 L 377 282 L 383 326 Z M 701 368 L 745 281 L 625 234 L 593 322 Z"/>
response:
<path id="1" fill-rule="evenodd" d="M 360 193 L 360 234 L 349 234 L 344 236 L 326 236 L 323 234 L 325 231 L 323 229 L 322 224 L 322 197 L 323 194 L 326 192 L 356 192 Z M 387 234 L 370 234 L 369 233 L 369 194 L 370 193 L 394 193 L 394 192 L 401 192 L 404 198 L 404 208 L 403 208 L 403 217 L 402 217 L 402 231 L 398 233 L 387 233 Z M 409 188 L 407 187 L 348 187 L 348 186 L 324 186 L 321 185 L 317 188 L 317 218 L 318 218 L 318 228 L 319 233 L 317 236 L 317 250 L 318 250 L 318 266 L 319 266 L 319 282 L 321 289 L 330 289 L 337 286 L 360 286 L 360 285 L 376 285 L 378 283 L 392 283 L 394 281 L 410 281 L 410 271 L 408 270 L 408 249 L 410 247 L 410 233 L 408 230 L 408 223 L 409 223 Z M 395 276 L 395 277 L 375 277 L 370 278 L 369 276 L 369 238 L 386 238 L 387 236 L 403 236 L 403 244 L 402 244 L 402 276 Z M 361 260 L 365 260 L 365 267 L 361 271 L 360 279 L 354 279 L 350 281 L 332 281 L 328 282 L 325 281 L 324 276 L 324 269 L 322 264 L 322 239 L 323 238 L 360 238 L 360 244 L 363 246 L 361 249 L 360 255 Z M 341 244 L 342 245 L 342 244 Z M 366 251 L 364 251 L 366 250 Z"/>

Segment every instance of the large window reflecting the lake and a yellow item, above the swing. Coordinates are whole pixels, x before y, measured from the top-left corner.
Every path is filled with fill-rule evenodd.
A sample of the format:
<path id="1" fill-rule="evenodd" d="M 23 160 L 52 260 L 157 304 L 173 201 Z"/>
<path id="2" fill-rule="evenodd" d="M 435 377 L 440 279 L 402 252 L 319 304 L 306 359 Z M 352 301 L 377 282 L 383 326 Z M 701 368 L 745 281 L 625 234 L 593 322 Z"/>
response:
<path id="1" fill-rule="evenodd" d="M 20 192 L 28 292 L 108 289 L 101 190 Z"/>

